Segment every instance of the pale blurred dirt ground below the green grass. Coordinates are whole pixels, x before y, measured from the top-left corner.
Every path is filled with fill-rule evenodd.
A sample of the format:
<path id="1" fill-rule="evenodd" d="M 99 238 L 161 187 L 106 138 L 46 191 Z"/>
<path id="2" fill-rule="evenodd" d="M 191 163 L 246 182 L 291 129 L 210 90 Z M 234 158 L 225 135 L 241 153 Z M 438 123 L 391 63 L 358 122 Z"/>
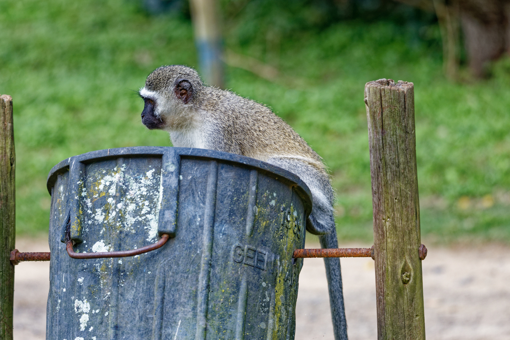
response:
<path id="1" fill-rule="evenodd" d="M 45 240 L 18 239 L 16 248 L 48 251 Z M 510 340 L 509 250 L 496 245 L 428 249 L 422 263 L 427 339 Z M 16 266 L 15 340 L 45 338 L 48 272 L 44 262 Z M 342 274 L 349 339 L 376 339 L 373 260 L 342 259 Z M 311 339 L 333 340 L 324 265 L 315 258 L 304 260 L 296 306 L 296 340 Z"/>

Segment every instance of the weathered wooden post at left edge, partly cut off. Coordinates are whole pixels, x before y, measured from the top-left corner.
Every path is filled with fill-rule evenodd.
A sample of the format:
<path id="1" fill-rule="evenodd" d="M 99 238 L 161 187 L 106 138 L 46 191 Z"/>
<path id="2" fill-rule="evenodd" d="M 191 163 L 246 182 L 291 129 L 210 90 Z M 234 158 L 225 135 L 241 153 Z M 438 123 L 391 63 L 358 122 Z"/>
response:
<path id="1" fill-rule="evenodd" d="M 0 339 L 12 340 L 14 266 L 9 260 L 14 249 L 15 187 L 12 98 L 0 96 Z"/>

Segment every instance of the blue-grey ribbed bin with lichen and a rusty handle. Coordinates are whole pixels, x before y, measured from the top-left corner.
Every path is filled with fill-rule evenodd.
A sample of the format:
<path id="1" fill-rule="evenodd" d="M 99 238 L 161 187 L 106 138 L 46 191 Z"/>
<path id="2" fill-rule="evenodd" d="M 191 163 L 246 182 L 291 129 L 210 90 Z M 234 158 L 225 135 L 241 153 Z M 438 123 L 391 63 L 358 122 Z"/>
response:
<path id="1" fill-rule="evenodd" d="M 50 171 L 46 339 L 293 339 L 311 194 L 244 156 L 130 147 Z M 133 250 L 131 257 L 71 258 Z M 158 241 L 160 240 L 160 241 Z M 163 242 L 164 243 L 164 242 Z"/>

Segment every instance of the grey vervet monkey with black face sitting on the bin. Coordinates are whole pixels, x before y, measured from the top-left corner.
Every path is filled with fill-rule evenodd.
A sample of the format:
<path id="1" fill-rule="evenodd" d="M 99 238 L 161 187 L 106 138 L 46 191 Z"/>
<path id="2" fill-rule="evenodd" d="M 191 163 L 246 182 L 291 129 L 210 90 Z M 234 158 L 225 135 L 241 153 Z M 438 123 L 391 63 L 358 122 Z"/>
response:
<path id="1" fill-rule="evenodd" d="M 203 84 L 187 66 L 162 66 L 139 91 L 142 123 L 170 134 L 172 144 L 248 156 L 298 175 L 312 192 L 307 230 L 323 248 L 338 248 L 333 189 L 320 156 L 266 106 Z M 336 340 L 347 339 L 339 258 L 324 258 Z"/>

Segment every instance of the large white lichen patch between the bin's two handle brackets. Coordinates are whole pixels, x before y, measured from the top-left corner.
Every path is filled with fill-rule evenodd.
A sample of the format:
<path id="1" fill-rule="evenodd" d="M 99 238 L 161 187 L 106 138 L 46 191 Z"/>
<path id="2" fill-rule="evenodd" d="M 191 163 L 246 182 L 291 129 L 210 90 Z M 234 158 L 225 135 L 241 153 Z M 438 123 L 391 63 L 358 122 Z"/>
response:
<path id="1" fill-rule="evenodd" d="M 136 249 L 137 245 L 141 247 L 142 237 L 149 243 L 158 239 L 162 174 L 158 168 L 151 167 L 139 172 L 139 168 L 128 166 L 126 163 L 92 171 L 83 184 L 81 208 L 84 218 L 81 223 L 89 240 L 89 252 L 113 251 L 118 238 L 123 238 L 125 232 L 141 233 L 140 237 L 123 242 L 122 248 L 125 249 Z M 129 260 L 136 260 L 136 257 Z M 118 260 L 118 263 L 122 264 L 122 260 Z M 92 268 L 99 276 L 99 285 L 103 289 L 111 285 L 112 265 L 110 259 L 94 261 Z"/>

